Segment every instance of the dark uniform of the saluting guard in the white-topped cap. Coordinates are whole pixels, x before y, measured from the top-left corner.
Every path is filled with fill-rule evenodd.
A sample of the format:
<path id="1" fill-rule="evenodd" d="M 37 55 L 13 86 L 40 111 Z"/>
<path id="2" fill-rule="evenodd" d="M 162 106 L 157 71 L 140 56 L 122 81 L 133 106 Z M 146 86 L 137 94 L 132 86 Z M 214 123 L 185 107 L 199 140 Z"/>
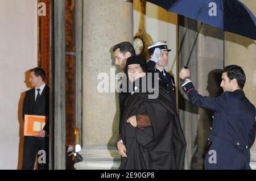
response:
<path id="1" fill-rule="evenodd" d="M 170 98 L 174 103 L 172 107 L 176 110 L 177 109 L 176 108 L 176 91 L 175 91 L 174 77 L 170 73 L 168 73 L 166 70 L 164 70 L 167 77 L 166 79 L 163 73 L 161 73 L 161 71 L 155 67 L 155 64 L 156 63 L 154 61 L 149 60 L 147 62 L 148 70 L 152 73 L 159 73 L 159 86 L 162 86 L 167 91 L 168 95 L 170 96 Z"/>

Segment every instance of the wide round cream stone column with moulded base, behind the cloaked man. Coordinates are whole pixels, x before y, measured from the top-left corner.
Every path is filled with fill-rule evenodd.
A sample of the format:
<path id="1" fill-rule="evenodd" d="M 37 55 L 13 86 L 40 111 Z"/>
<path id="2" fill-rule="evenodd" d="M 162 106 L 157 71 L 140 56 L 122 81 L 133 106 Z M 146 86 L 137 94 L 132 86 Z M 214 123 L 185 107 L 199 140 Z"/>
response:
<path id="1" fill-rule="evenodd" d="M 115 87 L 110 89 L 117 82 L 112 47 L 121 41 L 133 41 L 133 3 L 86 0 L 83 10 L 81 155 L 84 161 L 75 167 L 117 169 L 120 157 L 114 143 L 118 137 L 119 103 Z M 100 73 L 108 75 L 111 92 L 98 92 Z"/>

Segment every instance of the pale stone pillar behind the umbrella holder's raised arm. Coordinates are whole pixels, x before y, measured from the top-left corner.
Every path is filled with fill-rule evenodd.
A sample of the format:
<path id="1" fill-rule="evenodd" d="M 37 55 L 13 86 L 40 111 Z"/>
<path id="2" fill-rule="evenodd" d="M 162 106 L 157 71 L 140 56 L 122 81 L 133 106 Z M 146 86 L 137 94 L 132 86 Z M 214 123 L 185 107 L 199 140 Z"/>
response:
<path id="1" fill-rule="evenodd" d="M 203 96 L 217 97 L 222 93 L 220 87 L 224 64 L 224 32 L 218 28 L 203 24 L 197 40 L 197 91 Z M 192 169 L 203 169 L 207 154 L 208 137 L 212 127 L 213 112 L 198 110 L 198 149 L 197 162 Z M 203 158 L 203 159 L 202 159 Z"/>

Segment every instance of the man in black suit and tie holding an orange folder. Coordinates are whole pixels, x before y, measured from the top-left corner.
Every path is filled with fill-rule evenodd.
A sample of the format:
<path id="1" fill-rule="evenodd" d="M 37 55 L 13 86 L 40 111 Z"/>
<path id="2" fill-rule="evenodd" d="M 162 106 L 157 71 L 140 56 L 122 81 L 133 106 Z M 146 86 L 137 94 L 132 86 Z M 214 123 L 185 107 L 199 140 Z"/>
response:
<path id="1" fill-rule="evenodd" d="M 23 118 L 28 116 L 39 117 L 49 116 L 49 87 L 45 83 L 46 73 L 41 68 L 34 68 L 30 70 L 29 82 L 34 89 L 26 91 L 23 101 Z M 25 116 L 26 115 L 26 116 Z M 25 121 L 27 123 L 27 120 Z M 40 121 L 36 121 L 40 123 Z M 26 127 L 27 125 L 24 125 Z M 23 147 L 23 170 L 32 170 L 35 166 L 35 158 L 38 153 L 38 168 L 40 170 L 48 169 L 48 137 L 46 134 L 49 132 L 49 124 L 46 121 L 43 129 L 38 124 L 33 126 L 36 134 L 35 136 L 24 135 Z M 38 152 L 39 151 L 39 152 Z"/>

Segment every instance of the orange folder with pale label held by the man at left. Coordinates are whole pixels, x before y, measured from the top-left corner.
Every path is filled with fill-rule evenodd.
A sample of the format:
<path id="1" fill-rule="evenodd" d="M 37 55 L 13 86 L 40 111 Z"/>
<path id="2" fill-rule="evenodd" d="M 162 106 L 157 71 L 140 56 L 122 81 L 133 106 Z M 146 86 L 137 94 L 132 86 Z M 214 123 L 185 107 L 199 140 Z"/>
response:
<path id="1" fill-rule="evenodd" d="M 38 136 L 46 125 L 46 116 L 25 115 L 24 136 Z"/>

